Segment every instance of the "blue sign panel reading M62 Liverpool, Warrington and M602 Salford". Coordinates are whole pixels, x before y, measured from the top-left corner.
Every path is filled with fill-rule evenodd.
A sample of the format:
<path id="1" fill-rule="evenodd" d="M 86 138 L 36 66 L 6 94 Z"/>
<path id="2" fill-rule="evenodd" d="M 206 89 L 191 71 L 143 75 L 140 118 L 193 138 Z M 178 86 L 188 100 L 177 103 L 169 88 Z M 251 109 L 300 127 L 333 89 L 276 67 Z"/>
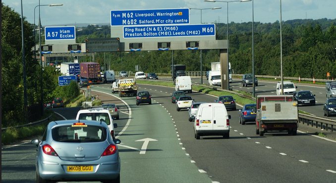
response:
<path id="1" fill-rule="evenodd" d="M 189 8 L 111 10 L 111 26 L 189 24 Z"/>

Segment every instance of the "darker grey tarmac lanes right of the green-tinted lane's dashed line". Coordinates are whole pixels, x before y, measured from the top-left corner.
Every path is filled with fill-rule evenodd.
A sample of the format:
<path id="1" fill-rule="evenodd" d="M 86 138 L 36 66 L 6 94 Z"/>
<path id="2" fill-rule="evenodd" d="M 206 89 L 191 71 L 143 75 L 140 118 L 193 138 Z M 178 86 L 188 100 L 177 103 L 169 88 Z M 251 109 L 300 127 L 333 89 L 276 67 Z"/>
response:
<path id="1" fill-rule="evenodd" d="M 180 135 L 183 147 L 198 168 L 207 172 L 213 181 L 335 182 L 336 174 L 327 171 L 336 171 L 336 159 L 333 156 L 336 150 L 335 142 L 301 133 L 297 136 L 267 133 L 264 137 L 260 137 L 255 134 L 254 124 L 238 123 L 238 111 L 228 111 L 231 115 L 230 139 L 209 136 L 196 140 L 193 122 L 188 122 L 187 111 L 177 112 L 175 104 L 171 104 L 170 97 L 167 97 L 173 92 L 172 88 L 140 84 L 139 86 L 155 96 L 160 96 L 157 99 L 160 103 L 170 103 L 166 104 L 166 108 L 176 124 L 176 131 Z M 197 102 L 212 102 L 216 98 L 198 92 L 188 95 Z M 304 145 L 304 148 L 298 144 Z"/>

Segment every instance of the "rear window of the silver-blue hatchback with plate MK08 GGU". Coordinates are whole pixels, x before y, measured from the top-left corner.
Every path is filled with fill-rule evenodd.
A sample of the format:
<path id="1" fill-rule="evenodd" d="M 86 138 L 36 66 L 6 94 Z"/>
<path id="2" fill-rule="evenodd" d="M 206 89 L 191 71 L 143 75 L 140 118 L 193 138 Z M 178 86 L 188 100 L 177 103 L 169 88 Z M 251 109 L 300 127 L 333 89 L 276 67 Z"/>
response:
<path id="1" fill-rule="evenodd" d="M 107 129 L 103 126 L 57 126 L 52 129 L 53 139 L 57 142 L 101 142 L 107 138 Z"/>

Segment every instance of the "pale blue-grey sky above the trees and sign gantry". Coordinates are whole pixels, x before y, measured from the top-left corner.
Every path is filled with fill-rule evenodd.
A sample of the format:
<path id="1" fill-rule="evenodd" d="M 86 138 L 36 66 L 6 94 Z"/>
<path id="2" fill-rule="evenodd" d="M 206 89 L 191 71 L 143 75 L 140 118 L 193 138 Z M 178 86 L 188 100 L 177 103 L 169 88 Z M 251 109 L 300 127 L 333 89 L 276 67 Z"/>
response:
<path id="1" fill-rule="evenodd" d="M 189 10 L 190 24 L 252 22 L 252 1 L 207 2 L 203 0 L 1 0 L 30 23 L 38 24 L 39 1 L 42 26 L 108 24 L 111 10 L 196 8 Z M 232 1 L 232 0 L 231 0 Z M 48 6 L 47 4 L 63 4 Z M 42 6 L 45 5 L 45 6 Z M 228 5 L 228 12 L 227 12 Z M 35 8 L 36 7 L 36 8 Z M 221 9 L 210 9 L 222 7 Z M 209 8 L 209 9 L 207 9 Z M 202 9 L 202 10 L 201 10 Z M 280 21 L 280 0 L 253 0 L 254 21 Z M 281 0 L 282 21 L 293 19 L 335 19 L 336 0 Z M 76 26 L 78 27 L 78 26 Z"/>

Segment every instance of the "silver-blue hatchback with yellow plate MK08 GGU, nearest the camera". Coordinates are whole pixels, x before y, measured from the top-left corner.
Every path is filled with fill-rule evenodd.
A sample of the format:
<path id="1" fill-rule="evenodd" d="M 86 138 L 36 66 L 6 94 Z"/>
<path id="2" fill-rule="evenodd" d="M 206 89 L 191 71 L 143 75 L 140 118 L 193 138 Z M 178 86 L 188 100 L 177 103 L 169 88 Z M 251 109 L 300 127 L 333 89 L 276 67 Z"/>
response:
<path id="1" fill-rule="evenodd" d="M 120 157 L 105 122 L 50 122 L 37 146 L 36 182 L 100 181 L 120 183 Z"/>

